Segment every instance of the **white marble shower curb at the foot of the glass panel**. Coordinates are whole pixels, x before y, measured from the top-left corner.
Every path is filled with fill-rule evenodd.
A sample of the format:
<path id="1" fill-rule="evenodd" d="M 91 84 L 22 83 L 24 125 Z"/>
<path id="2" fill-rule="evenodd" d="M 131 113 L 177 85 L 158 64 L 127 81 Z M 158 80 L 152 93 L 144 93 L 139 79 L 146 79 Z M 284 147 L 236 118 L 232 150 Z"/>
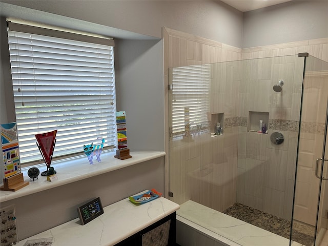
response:
<path id="1" fill-rule="evenodd" d="M 177 220 L 227 246 L 289 246 L 290 242 L 289 239 L 191 200 L 180 205 Z M 303 245 L 292 242 L 292 246 Z"/>

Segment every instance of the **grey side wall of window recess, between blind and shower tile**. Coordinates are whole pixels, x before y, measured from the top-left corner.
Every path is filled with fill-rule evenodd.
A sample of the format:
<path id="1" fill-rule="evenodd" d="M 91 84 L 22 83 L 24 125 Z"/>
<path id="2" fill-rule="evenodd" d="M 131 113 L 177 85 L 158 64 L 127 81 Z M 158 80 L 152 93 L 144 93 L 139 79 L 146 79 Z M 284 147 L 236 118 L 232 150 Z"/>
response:
<path id="1" fill-rule="evenodd" d="M 117 111 L 127 113 L 129 148 L 164 150 L 162 40 L 118 40 L 114 55 Z"/>

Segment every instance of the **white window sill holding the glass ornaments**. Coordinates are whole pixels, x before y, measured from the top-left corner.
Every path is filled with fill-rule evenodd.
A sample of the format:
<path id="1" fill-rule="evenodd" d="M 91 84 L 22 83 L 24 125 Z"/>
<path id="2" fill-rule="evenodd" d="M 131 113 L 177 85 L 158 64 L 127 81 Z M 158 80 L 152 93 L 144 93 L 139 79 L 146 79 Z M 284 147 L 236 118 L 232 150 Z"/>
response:
<path id="1" fill-rule="evenodd" d="M 27 175 L 28 168 L 23 168 L 24 181 L 30 181 L 30 184 L 18 191 L 1 191 L 0 202 L 9 201 L 18 197 L 27 196 L 40 191 L 49 190 L 55 187 L 64 186 L 68 183 L 83 180 L 100 174 L 108 173 L 117 169 L 129 167 L 141 162 L 156 159 L 165 156 L 166 153 L 162 151 L 142 151 L 130 152 L 132 158 L 120 160 L 114 157 L 116 152 L 107 152 L 101 154 L 101 162 L 97 162 L 94 157 L 94 165 L 89 164 L 86 156 L 78 158 L 58 161 L 54 165 L 57 172 L 57 180 L 47 181 L 47 178 L 39 175 L 38 179 L 31 180 Z M 46 171 L 46 165 L 38 167 L 40 173 Z"/>

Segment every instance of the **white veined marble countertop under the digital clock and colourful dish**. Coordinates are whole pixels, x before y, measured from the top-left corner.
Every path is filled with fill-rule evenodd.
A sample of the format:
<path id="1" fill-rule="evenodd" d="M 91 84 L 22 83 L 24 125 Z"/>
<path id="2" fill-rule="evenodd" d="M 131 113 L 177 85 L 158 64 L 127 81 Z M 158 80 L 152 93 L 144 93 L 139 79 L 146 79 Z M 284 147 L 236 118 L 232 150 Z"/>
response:
<path id="1" fill-rule="evenodd" d="M 110 246 L 114 245 L 154 222 L 174 213 L 179 205 L 159 197 L 136 205 L 128 198 L 104 208 L 104 214 L 82 226 L 79 218 L 16 243 L 23 246 L 27 240 L 53 238 L 52 246 Z"/>

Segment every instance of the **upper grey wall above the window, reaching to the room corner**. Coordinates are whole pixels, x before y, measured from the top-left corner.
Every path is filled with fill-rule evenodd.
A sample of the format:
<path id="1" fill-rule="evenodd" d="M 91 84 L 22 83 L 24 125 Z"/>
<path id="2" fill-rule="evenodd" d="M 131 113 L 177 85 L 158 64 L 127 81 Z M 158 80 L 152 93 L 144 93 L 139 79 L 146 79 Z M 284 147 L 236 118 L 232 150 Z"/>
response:
<path id="1" fill-rule="evenodd" d="M 159 38 L 166 26 L 241 47 L 242 13 L 220 1 L 2 2 Z"/>

